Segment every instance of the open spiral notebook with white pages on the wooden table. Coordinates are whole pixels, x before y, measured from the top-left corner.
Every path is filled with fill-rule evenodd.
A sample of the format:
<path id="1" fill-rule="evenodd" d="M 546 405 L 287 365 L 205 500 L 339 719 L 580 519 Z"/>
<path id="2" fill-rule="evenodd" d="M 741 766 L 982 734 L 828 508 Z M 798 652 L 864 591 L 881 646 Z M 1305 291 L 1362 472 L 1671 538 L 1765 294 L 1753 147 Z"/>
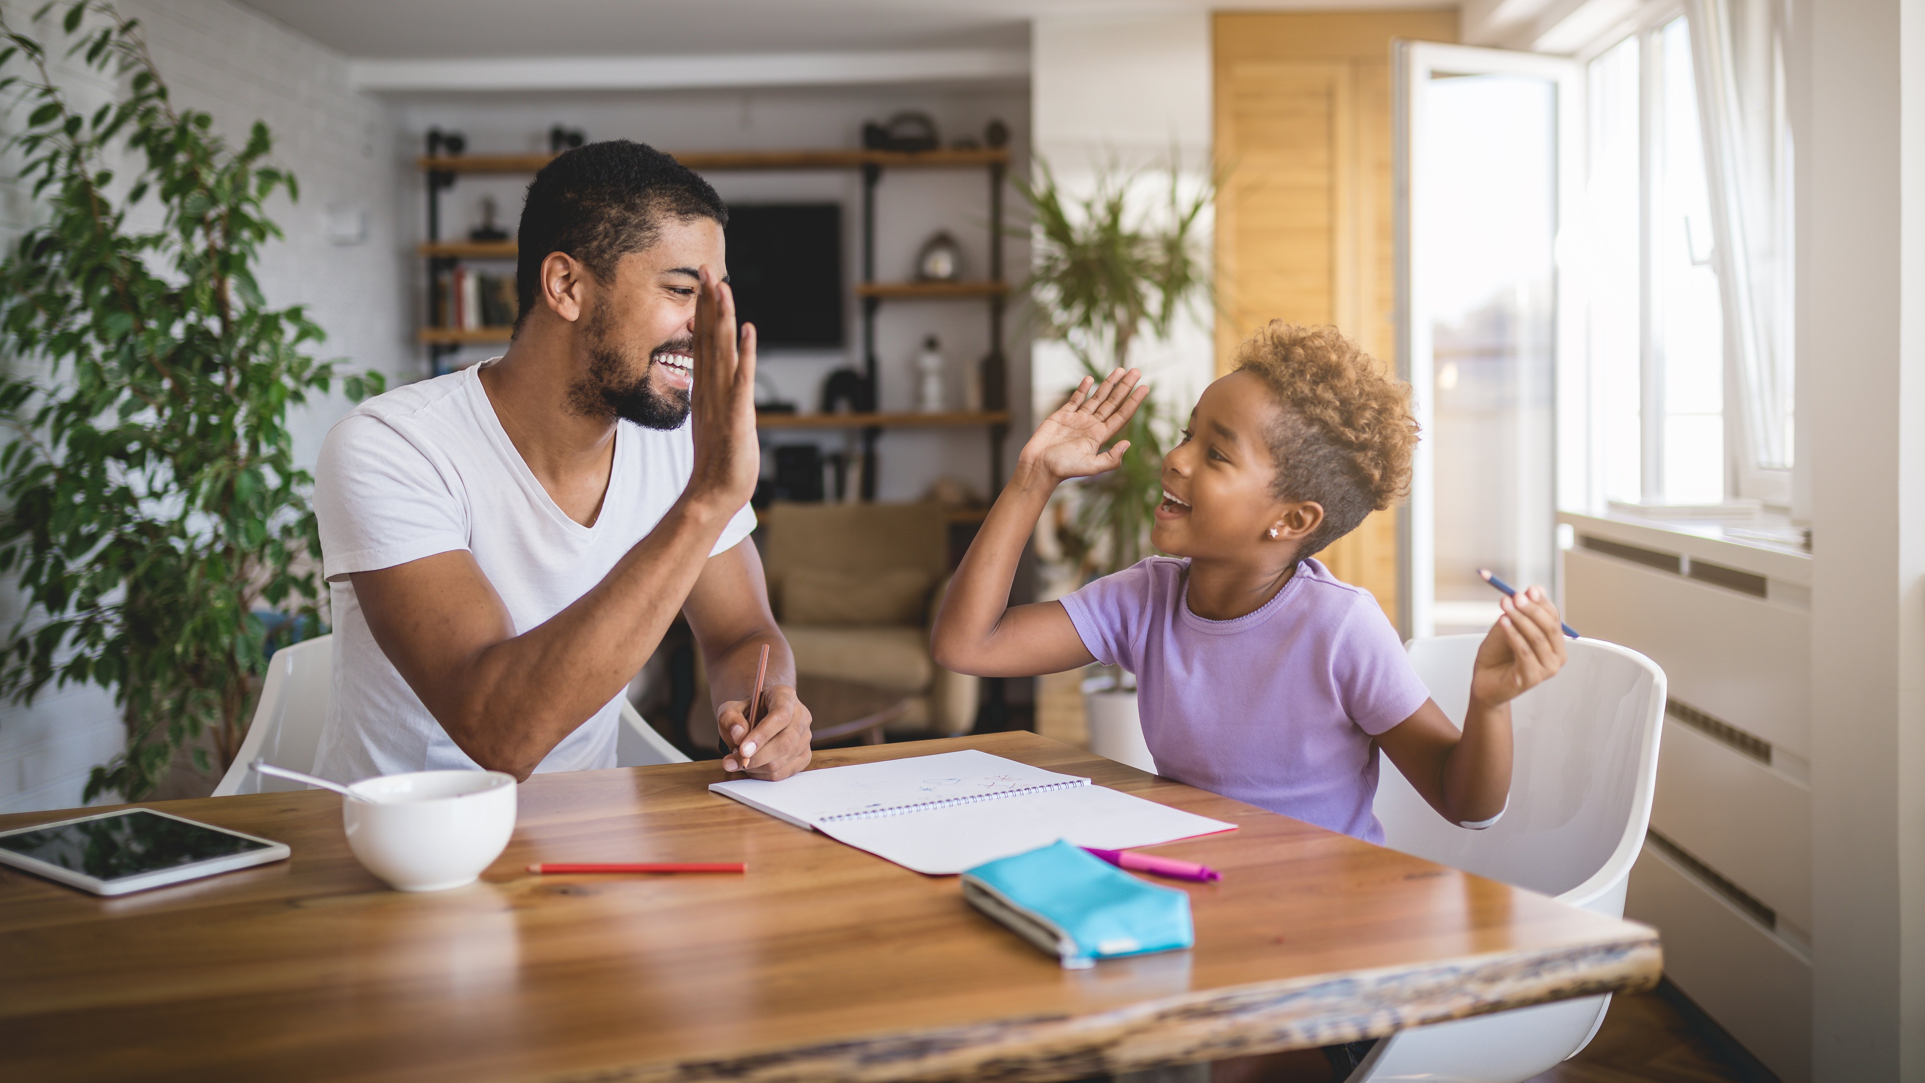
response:
<path id="1" fill-rule="evenodd" d="M 1066 838 L 1128 850 L 1236 831 L 1157 802 L 964 750 L 737 779 L 710 790 L 928 875 L 953 875 Z"/>

